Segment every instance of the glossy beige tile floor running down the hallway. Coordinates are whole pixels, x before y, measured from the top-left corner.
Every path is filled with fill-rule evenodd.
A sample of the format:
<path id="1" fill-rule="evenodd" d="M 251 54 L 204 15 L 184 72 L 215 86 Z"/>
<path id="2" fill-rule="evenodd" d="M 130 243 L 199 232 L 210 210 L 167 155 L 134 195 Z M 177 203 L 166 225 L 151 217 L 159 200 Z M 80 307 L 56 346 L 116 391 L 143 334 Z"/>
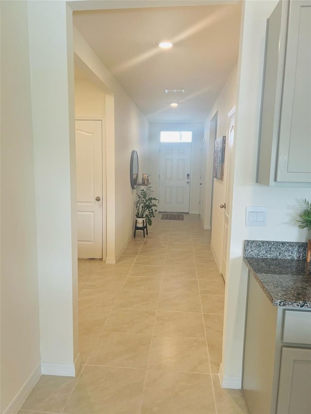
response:
<path id="1" fill-rule="evenodd" d="M 79 261 L 76 378 L 42 376 L 19 411 L 246 414 L 220 386 L 225 284 L 198 215 L 137 232 L 117 265 Z"/>

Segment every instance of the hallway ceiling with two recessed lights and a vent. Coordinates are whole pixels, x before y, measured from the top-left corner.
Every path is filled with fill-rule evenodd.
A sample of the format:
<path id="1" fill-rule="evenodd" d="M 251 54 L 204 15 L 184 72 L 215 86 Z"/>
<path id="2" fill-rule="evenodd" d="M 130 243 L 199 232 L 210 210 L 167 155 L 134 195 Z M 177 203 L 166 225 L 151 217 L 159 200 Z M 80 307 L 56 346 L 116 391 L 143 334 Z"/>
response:
<path id="1" fill-rule="evenodd" d="M 238 60 L 240 17 L 239 2 L 74 12 L 73 22 L 149 121 L 203 122 Z M 173 48 L 156 46 L 164 39 Z"/>

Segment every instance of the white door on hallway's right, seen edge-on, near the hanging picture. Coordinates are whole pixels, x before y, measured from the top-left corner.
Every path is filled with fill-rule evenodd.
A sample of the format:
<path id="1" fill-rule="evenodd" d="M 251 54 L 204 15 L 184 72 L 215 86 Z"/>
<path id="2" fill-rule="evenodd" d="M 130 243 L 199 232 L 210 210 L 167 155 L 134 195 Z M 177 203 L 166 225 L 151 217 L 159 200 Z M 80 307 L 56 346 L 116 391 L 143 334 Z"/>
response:
<path id="1" fill-rule="evenodd" d="M 222 261 L 222 274 L 226 276 L 226 262 L 227 262 L 227 244 L 228 244 L 228 226 L 229 226 L 229 200 L 230 200 L 230 177 L 232 176 L 232 149 L 234 143 L 234 113 L 235 109 L 229 113 L 229 133 L 226 143 L 227 151 L 227 163 L 226 163 L 226 175 L 225 175 L 225 218 L 224 218 L 224 248 L 223 248 L 223 261 Z"/>

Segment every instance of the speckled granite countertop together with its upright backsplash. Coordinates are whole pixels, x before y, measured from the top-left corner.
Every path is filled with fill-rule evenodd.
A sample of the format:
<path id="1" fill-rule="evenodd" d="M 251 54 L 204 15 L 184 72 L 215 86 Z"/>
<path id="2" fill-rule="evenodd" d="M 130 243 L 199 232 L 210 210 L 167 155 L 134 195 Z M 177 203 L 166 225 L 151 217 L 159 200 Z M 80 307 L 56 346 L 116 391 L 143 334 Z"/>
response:
<path id="1" fill-rule="evenodd" d="M 280 245 L 287 247 L 286 258 Z M 243 260 L 273 305 L 311 309 L 311 263 L 301 258 L 305 245 L 245 240 Z"/>

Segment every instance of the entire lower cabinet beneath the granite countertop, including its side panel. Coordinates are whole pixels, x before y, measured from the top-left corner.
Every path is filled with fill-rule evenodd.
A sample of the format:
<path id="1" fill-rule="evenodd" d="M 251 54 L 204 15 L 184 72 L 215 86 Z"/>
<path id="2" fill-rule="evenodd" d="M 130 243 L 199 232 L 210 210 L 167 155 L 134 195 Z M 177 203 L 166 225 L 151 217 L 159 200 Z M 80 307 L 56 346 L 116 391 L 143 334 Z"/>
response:
<path id="1" fill-rule="evenodd" d="M 311 309 L 273 306 L 251 275 L 242 390 L 250 414 L 311 414 Z"/>

